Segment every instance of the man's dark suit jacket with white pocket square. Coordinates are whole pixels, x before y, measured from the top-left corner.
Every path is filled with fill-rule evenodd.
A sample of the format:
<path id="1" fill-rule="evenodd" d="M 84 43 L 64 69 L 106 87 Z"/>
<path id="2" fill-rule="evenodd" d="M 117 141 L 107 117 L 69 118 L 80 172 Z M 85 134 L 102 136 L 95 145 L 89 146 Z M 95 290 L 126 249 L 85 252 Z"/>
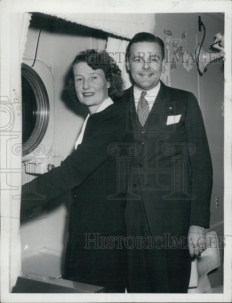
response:
<path id="1" fill-rule="evenodd" d="M 133 88 L 125 90 L 121 104 L 132 119 L 131 132 L 138 149 L 131 192 L 144 201 L 152 236 L 169 233 L 178 240 L 187 236 L 189 225 L 209 228 L 212 164 L 197 99 L 191 92 L 161 82 L 147 122 L 141 127 Z M 128 233 L 133 235 L 137 228 L 134 209 L 141 200 L 129 196 L 126 218 Z"/>

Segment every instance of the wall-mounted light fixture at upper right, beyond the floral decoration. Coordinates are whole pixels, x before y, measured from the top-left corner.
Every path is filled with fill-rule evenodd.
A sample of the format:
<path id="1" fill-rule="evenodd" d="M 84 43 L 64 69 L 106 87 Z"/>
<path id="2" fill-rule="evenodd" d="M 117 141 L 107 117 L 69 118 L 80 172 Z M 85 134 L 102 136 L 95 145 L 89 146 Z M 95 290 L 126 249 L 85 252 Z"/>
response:
<path id="1" fill-rule="evenodd" d="M 206 66 L 214 62 L 216 60 L 220 60 L 221 63 L 224 63 L 224 35 L 221 35 L 221 33 L 217 33 L 215 36 L 214 43 L 210 45 L 210 47 L 213 47 L 217 50 L 217 52 L 206 52 L 205 48 L 202 46 L 205 38 L 205 26 L 204 23 L 201 21 L 201 16 L 198 16 L 198 26 L 199 26 L 199 32 L 201 32 L 201 26 L 204 29 L 204 35 L 202 42 L 197 44 L 195 48 L 195 60 L 197 63 L 197 70 L 199 72 L 199 75 L 202 76 L 203 72 L 207 71 Z"/>

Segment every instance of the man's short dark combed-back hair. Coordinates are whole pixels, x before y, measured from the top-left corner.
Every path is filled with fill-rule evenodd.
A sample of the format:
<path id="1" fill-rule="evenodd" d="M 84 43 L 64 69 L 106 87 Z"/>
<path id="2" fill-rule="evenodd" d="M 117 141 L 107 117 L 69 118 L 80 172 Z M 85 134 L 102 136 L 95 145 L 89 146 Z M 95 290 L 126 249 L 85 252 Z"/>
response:
<path id="1" fill-rule="evenodd" d="M 141 33 L 135 34 L 134 37 L 129 42 L 128 46 L 127 46 L 126 55 L 125 55 L 125 58 L 126 58 L 127 62 L 130 61 L 128 56 L 131 54 L 131 45 L 133 43 L 138 43 L 138 42 L 155 42 L 155 43 L 158 43 L 161 47 L 162 60 L 164 60 L 165 52 L 164 52 L 164 42 L 163 42 L 163 40 L 159 37 L 154 36 L 151 33 L 141 32 Z"/>

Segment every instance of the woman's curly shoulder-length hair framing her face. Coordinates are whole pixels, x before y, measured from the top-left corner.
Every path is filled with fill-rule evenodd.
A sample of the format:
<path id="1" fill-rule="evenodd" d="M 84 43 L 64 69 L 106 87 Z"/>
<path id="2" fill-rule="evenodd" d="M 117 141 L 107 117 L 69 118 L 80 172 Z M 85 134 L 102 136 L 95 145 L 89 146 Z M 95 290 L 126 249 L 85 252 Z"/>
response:
<path id="1" fill-rule="evenodd" d="M 123 95 L 124 81 L 121 78 L 121 70 L 107 52 L 98 52 L 95 49 L 86 49 L 80 52 L 71 63 L 70 72 L 67 79 L 66 89 L 72 100 L 78 100 L 73 76 L 73 67 L 79 62 L 87 63 L 93 70 L 102 69 L 107 81 L 110 82 L 108 95 L 110 97 L 120 97 Z"/>

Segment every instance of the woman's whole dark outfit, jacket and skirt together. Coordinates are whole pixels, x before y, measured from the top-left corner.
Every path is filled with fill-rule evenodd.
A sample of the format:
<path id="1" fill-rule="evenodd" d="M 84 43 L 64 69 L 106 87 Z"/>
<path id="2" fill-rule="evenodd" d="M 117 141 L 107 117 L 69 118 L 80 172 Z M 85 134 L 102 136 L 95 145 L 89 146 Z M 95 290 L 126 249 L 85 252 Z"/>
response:
<path id="1" fill-rule="evenodd" d="M 117 156 L 128 159 L 132 138 L 127 125 L 126 112 L 115 104 L 92 114 L 77 149 L 59 167 L 35 179 L 36 193 L 44 198 L 35 200 L 33 181 L 22 187 L 22 209 L 72 191 L 65 278 L 104 286 L 109 292 L 125 291 L 126 249 L 87 249 L 85 234 L 125 236 L 126 191 L 119 193 L 120 199 L 108 196 L 117 193 Z"/>

